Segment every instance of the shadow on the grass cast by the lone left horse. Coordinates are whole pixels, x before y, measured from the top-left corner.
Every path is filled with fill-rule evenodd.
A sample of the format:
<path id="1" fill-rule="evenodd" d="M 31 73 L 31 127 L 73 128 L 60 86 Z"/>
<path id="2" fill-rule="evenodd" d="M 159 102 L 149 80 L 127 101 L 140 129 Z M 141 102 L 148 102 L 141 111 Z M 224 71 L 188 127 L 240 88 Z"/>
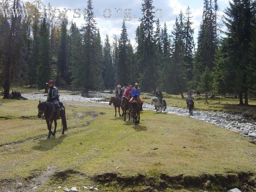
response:
<path id="1" fill-rule="evenodd" d="M 38 151 L 48 151 L 62 143 L 63 139 L 66 138 L 67 135 L 61 135 L 60 137 L 51 137 L 51 139 L 43 139 L 38 142 L 37 146 L 32 147 L 35 150 Z"/>

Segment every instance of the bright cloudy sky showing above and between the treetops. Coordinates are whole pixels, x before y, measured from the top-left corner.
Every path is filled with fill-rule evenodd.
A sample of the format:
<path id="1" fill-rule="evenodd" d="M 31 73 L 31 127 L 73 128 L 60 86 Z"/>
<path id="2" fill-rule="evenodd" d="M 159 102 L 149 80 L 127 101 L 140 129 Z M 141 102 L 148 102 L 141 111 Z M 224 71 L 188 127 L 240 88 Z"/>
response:
<path id="1" fill-rule="evenodd" d="M 85 24 L 83 18 L 83 10 L 87 8 L 87 0 L 42 0 L 45 5 L 50 3 L 53 8 L 58 8 L 60 10 L 72 9 L 72 11 L 67 11 L 67 16 L 69 21 L 74 21 L 77 26 L 81 27 Z M 132 9 L 130 21 L 126 21 L 128 37 L 130 38 L 132 45 L 136 46 L 135 41 L 135 31 L 137 26 L 139 26 L 139 18 L 142 17 L 142 11 L 140 10 L 142 0 L 92 0 L 94 6 L 94 15 L 96 17 L 96 22 L 100 30 L 102 43 L 105 40 L 106 34 L 109 35 L 110 42 L 113 41 L 114 35 L 120 36 L 121 26 L 124 19 L 124 10 Z M 197 41 L 198 30 L 200 22 L 202 20 L 203 14 L 203 0 L 153 0 L 153 5 L 155 8 L 162 9 L 162 18 L 159 17 L 161 27 L 166 23 L 168 32 L 171 34 L 173 29 L 173 24 L 176 17 L 182 10 L 185 13 L 186 8 L 189 6 L 191 8 L 192 18 L 192 28 L 194 28 L 194 41 Z M 219 5 L 219 15 L 223 15 L 223 11 L 229 6 L 229 0 L 218 0 Z M 74 9 L 81 9 L 81 17 L 73 18 Z M 111 15 L 109 14 L 109 9 L 111 10 Z M 116 10 L 118 11 L 116 15 Z M 104 16 L 105 10 L 105 16 Z M 160 14 L 158 15 L 160 16 Z M 218 23 L 220 23 L 221 18 L 219 17 Z M 128 18 L 127 18 L 128 19 Z"/>

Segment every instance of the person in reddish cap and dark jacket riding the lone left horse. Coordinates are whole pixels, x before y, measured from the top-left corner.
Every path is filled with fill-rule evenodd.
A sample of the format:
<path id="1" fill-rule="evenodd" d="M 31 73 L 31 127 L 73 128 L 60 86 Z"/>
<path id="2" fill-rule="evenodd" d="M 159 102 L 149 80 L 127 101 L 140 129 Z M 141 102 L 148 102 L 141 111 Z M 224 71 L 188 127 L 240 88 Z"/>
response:
<path id="1" fill-rule="evenodd" d="M 56 107 L 56 119 L 60 119 L 60 98 L 59 98 L 59 92 L 57 87 L 54 86 L 54 81 L 49 80 L 48 89 L 48 95 L 47 95 L 47 102 L 53 102 Z"/>

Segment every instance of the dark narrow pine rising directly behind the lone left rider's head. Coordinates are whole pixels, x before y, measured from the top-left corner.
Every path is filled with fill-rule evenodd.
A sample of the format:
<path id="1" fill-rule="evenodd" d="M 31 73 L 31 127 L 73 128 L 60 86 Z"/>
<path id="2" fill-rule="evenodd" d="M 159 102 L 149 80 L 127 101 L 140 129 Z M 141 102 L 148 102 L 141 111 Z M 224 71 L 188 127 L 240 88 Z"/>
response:
<path id="1" fill-rule="evenodd" d="M 44 18 L 41 22 L 38 58 L 38 89 L 45 89 L 45 83 L 52 77 L 49 30 Z"/>

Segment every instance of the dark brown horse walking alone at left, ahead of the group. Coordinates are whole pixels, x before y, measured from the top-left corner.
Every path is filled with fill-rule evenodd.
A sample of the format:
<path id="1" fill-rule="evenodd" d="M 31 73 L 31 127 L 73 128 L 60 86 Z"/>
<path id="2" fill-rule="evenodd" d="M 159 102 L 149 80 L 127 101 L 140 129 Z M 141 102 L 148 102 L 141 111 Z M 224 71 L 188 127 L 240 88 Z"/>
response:
<path id="1" fill-rule="evenodd" d="M 49 134 L 48 134 L 48 139 L 50 139 L 51 134 L 52 136 L 55 136 L 56 134 L 56 127 L 57 127 L 57 120 L 56 120 L 56 113 L 54 113 L 53 111 L 53 105 L 50 102 L 41 102 L 39 101 L 38 104 L 38 118 L 41 118 L 41 116 L 44 114 L 45 116 L 45 121 L 47 124 L 47 128 L 49 130 Z M 65 107 L 63 106 L 63 110 L 60 110 L 60 117 L 61 117 L 61 124 L 63 126 L 62 128 L 62 135 L 64 134 L 65 131 L 68 130 L 68 126 L 67 126 L 67 121 L 66 121 L 66 117 L 65 117 Z M 54 131 L 52 132 L 52 124 L 54 121 Z"/>

